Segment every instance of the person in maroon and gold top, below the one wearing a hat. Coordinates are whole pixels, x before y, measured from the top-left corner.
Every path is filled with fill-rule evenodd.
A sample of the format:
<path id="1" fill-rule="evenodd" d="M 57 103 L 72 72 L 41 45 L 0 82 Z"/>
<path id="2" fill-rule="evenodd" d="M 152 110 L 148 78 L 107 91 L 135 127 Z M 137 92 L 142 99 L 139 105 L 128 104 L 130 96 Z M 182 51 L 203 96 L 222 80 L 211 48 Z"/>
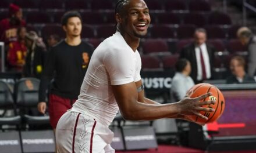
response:
<path id="1" fill-rule="evenodd" d="M 21 72 L 25 64 L 25 57 L 27 48 L 25 44 L 26 28 L 20 27 L 17 30 L 18 40 L 9 43 L 9 50 L 7 55 L 9 70 Z"/>

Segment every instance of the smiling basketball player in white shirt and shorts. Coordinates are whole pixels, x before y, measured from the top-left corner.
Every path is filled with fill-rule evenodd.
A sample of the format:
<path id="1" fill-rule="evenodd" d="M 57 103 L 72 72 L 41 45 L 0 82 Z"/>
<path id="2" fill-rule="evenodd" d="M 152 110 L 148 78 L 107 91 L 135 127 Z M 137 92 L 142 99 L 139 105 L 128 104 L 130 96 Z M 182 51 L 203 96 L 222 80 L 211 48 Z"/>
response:
<path id="1" fill-rule="evenodd" d="M 202 116 L 198 111 L 214 101 L 199 102 L 210 93 L 178 103 L 159 104 L 144 98 L 140 38 L 147 34 L 150 15 L 143 0 L 119 0 L 116 4 L 116 33 L 95 49 L 81 86 L 79 99 L 59 119 L 56 128 L 58 152 L 115 152 L 109 145 L 113 132 L 108 126 L 118 110 L 131 121 Z"/>

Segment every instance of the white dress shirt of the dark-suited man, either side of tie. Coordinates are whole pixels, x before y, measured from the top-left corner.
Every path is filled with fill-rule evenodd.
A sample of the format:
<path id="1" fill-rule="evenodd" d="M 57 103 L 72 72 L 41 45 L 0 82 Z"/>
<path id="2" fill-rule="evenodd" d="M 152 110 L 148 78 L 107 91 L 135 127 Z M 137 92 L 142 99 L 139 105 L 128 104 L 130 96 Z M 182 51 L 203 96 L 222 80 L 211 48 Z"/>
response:
<path id="1" fill-rule="evenodd" d="M 204 57 L 204 65 L 207 79 L 211 78 L 211 67 L 209 62 L 209 54 L 207 52 L 207 47 L 205 43 L 202 43 L 200 46 L 202 50 L 202 56 Z M 202 65 L 201 65 L 201 57 L 200 57 L 200 49 L 198 46 L 195 46 L 195 57 L 197 58 L 197 80 L 202 80 Z"/>

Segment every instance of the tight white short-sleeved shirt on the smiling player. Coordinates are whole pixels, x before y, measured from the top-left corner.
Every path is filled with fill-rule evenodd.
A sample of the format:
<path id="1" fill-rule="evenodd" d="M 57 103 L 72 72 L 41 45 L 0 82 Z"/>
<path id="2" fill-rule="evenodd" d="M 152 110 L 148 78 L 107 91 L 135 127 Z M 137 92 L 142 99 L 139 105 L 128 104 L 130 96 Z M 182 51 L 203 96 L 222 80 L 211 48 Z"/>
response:
<path id="1" fill-rule="evenodd" d="M 87 114 L 109 126 L 119 110 L 111 85 L 140 81 L 140 70 L 140 54 L 116 32 L 94 50 L 72 111 Z"/>

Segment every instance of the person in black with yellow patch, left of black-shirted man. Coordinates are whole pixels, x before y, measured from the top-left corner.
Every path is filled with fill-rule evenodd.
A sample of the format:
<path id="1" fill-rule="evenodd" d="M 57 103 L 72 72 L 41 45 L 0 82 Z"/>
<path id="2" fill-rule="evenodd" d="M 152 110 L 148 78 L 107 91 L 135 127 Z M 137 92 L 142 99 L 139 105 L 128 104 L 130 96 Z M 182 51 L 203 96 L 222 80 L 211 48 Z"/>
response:
<path id="1" fill-rule="evenodd" d="M 27 56 L 23 67 L 23 77 L 41 78 L 45 63 L 46 47 L 35 31 L 26 34 Z"/>

